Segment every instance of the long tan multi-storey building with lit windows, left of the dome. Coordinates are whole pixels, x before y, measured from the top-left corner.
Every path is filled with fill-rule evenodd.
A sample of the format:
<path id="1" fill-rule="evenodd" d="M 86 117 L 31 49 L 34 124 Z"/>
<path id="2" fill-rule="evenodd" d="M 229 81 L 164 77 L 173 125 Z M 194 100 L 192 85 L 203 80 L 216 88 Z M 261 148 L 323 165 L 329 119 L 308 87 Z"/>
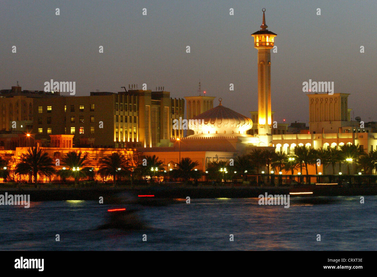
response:
<path id="1" fill-rule="evenodd" d="M 75 146 L 152 147 L 172 145 L 182 137 L 172 121 L 184 116 L 184 100 L 170 92 L 129 90 L 61 96 L 59 92 L 0 91 L 0 130 L 36 134 L 42 145 L 49 135 L 74 135 Z M 45 142 L 43 142 L 45 141 Z"/>

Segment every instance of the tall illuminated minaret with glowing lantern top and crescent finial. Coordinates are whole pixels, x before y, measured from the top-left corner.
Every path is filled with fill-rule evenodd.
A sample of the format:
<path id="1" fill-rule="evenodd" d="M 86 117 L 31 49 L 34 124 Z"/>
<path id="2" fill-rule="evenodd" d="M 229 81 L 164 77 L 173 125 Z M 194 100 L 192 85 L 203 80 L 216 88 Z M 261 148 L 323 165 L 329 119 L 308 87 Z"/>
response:
<path id="1" fill-rule="evenodd" d="M 258 49 L 258 136 L 264 146 L 272 146 L 271 135 L 271 53 L 276 34 L 268 31 L 264 12 L 261 30 L 251 34 Z M 262 145 L 261 145 L 262 146 Z"/>

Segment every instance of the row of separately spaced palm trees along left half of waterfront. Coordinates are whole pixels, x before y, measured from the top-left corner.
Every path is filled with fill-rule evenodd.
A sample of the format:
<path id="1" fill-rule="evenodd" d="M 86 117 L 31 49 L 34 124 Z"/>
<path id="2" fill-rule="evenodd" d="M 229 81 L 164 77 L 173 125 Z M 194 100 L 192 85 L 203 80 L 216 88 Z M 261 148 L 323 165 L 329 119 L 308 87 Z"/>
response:
<path id="1" fill-rule="evenodd" d="M 63 165 L 60 170 L 55 170 L 57 165 Z M 112 176 L 113 183 L 116 182 L 121 177 L 129 177 L 134 174 L 140 179 L 144 176 L 151 176 L 151 168 L 153 168 L 153 175 L 161 175 L 166 173 L 164 170 L 164 164 L 162 161 L 153 156 L 141 156 L 138 165 L 133 166 L 129 159 L 126 159 L 124 155 L 119 153 L 112 153 L 99 161 L 98 174 L 105 178 Z M 201 178 L 202 172 L 195 167 L 199 164 L 198 162 L 193 162 L 190 158 L 182 158 L 181 161 L 176 164 L 176 167 L 169 171 L 169 174 L 173 178 L 181 178 L 182 180 L 188 182 L 189 179 L 199 179 Z M 0 178 L 6 180 L 9 177 L 8 161 L 0 157 Z M 63 181 L 66 178 L 74 178 L 75 185 L 78 184 L 80 178 L 93 178 L 95 176 L 94 168 L 90 166 L 90 162 L 87 156 L 81 151 L 69 151 L 64 155 L 63 159 L 59 161 L 59 164 L 48 156 L 48 153 L 43 152 L 43 150 L 38 147 L 32 147 L 28 149 L 28 152 L 21 155 L 20 161 L 15 166 L 15 174 L 29 175 L 34 180 L 35 187 L 37 187 L 38 174 L 44 176 L 51 176 L 52 174 L 57 174 Z"/>

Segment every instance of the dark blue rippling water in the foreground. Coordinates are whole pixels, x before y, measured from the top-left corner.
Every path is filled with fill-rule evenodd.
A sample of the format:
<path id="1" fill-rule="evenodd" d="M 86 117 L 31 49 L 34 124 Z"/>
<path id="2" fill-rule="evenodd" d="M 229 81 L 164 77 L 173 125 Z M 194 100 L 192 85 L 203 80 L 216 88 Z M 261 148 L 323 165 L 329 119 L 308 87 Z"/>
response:
<path id="1" fill-rule="evenodd" d="M 96 230 L 114 206 L 95 201 L 0 206 L 0 250 L 377 250 L 377 196 L 365 204 L 357 196 L 302 199 L 291 197 L 290 208 L 257 198 L 182 199 L 144 207 L 138 216 L 149 227 L 138 231 Z"/>

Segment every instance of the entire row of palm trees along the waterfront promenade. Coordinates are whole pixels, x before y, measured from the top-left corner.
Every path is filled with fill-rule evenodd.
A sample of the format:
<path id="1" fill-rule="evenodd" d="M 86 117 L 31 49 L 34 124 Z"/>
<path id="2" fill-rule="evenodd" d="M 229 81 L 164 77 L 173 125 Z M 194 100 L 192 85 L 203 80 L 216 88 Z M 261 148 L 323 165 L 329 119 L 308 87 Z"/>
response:
<path id="1" fill-rule="evenodd" d="M 80 178 L 93 178 L 95 176 L 94 168 L 90 166 L 87 156 L 81 151 L 70 151 L 66 153 L 60 161 L 64 167 L 58 171 L 55 170 L 56 165 L 54 160 L 48 156 L 48 153 L 43 152 L 38 147 L 28 149 L 26 154 L 21 156 L 20 162 L 15 166 L 14 172 L 16 174 L 29 174 L 37 185 L 38 174 L 44 176 L 51 176 L 57 174 L 63 180 L 72 177 L 75 179 L 75 184 L 78 184 Z M 112 153 L 101 159 L 98 174 L 102 178 L 112 176 L 114 184 L 122 177 L 134 174 L 138 178 L 143 176 L 160 176 L 165 174 L 166 170 L 162 161 L 153 156 L 141 156 L 134 166 L 129 159 L 126 159 L 119 153 Z M 255 149 L 250 154 L 238 156 L 234 159 L 234 164 L 230 162 L 219 161 L 211 162 L 207 165 L 205 172 L 208 179 L 218 180 L 224 179 L 224 172 L 227 172 L 227 178 L 243 177 L 246 179 L 247 174 L 250 173 L 270 173 L 271 169 L 276 172 L 285 171 L 293 174 L 294 171 L 299 171 L 302 174 L 305 169 L 308 174 L 308 165 L 315 165 L 316 174 L 318 174 L 318 166 L 331 165 L 333 174 L 335 174 L 336 165 L 347 163 L 347 171 L 350 174 L 350 164 L 354 162 L 359 169 L 363 169 L 365 174 L 373 174 L 377 169 L 377 151 L 364 153 L 362 147 L 358 145 L 345 144 L 339 148 L 321 148 L 313 149 L 306 146 L 296 146 L 293 155 L 287 155 L 280 151 Z M 8 162 L 0 157 L 0 178 L 6 179 L 9 177 L 9 170 L 6 170 Z M 182 158 L 175 168 L 169 170 L 169 176 L 172 178 L 180 178 L 188 182 L 190 179 L 201 178 L 203 172 L 198 170 L 197 161 L 192 161 L 190 158 Z M 228 169 L 226 169 L 228 168 Z M 224 169 L 224 170 L 222 170 Z M 151 172 L 153 171 L 153 174 Z M 229 171 L 229 172 L 228 172 Z"/>

